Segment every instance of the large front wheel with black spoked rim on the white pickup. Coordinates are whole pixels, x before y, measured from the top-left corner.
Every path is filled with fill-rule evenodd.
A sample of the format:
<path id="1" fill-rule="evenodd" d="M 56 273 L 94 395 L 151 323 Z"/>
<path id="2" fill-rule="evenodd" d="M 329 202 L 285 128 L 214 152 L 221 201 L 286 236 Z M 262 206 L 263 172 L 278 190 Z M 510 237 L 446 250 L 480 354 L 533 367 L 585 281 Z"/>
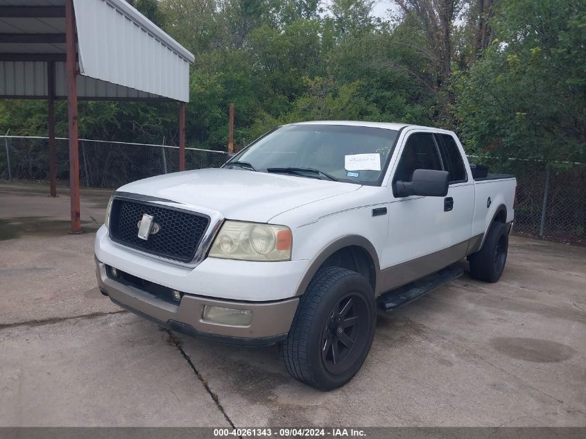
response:
<path id="1" fill-rule="evenodd" d="M 374 292 L 363 276 L 320 268 L 300 298 L 282 345 L 289 375 L 320 390 L 343 386 L 362 367 L 376 320 Z"/>

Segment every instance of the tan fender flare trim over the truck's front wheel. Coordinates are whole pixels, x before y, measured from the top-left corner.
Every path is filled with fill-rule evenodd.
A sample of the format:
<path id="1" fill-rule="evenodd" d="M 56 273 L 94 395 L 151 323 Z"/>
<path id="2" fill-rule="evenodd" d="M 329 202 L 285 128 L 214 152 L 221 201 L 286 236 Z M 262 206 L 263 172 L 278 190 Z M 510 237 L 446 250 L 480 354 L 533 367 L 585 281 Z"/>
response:
<path id="1" fill-rule="evenodd" d="M 364 236 L 352 234 L 341 236 L 340 238 L 334 239 L 334 241 L 330 241 L 329 243 L 327 243 L 325 247 L 323 247 L 320 250 L 320 252 L 318 252 L 318 255 L 315 258 L 313 258 L 311 264 L 309 264 L 309 267 L 307 268 L 307 270 L 305 270 L 305 274 L 301 278 L 297 286 L 297 289 L 295 290 L 295 297 L 305 293 L 305 290 L 307 289 L 309 282 L 311 282 L 311 279 L 313 279 L 313 276 L 316 275 L 316 273 L 318 272 L 322 264 L 327 260 L 327 258 L 329 258 L 331 255 L 334 255 L 334 253 L 338 250 L 350 246 L 360 247 L 366 252 L 368 252 L 370 259 L 372 260 L 372 268 L 374 270 L 373 289 L 374 291 L 376 291 L 377 279 L 380 272 L 379 255 L 377 254 L 377 250 L 374 249 L 372 243 L 368 241 L 368 239 L 366 239 Z"/>

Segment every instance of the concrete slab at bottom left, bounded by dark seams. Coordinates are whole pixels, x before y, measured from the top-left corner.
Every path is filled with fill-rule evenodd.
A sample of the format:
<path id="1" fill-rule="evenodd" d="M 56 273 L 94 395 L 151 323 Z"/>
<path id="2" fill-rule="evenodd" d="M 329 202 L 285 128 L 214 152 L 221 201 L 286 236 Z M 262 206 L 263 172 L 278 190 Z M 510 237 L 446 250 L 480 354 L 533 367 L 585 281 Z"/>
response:
<path id="1" fill-rule="evenodd" d="M 170 334 L 129 313 L 0 330 L 0 426 L 230 427 Z"/>

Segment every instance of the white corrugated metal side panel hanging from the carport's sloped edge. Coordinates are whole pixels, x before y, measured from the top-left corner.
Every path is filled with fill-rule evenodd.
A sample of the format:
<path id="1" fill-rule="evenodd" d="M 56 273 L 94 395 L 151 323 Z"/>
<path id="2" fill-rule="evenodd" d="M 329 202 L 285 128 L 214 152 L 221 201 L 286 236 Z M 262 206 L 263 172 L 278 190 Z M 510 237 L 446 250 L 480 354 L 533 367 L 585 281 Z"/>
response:
<path id="1" fill-rule="evenodd" d="M 83 75 L 177 101 L 189 101 L 188 58 L 193 60 L 191 53 L 181 46 L 182 50 L 176 51 L 178 44 L 160 29 L 155 33 L 151 27 L 154 25 L 146 18 L 143 17 L 151 26 L 127 15 L 133 8 L 126 2 L 74 0 L 74 4 Z M 169 44 L 169 40 L 174 44 Z M 178 84 L 188 86 L 177 87 Z"/>

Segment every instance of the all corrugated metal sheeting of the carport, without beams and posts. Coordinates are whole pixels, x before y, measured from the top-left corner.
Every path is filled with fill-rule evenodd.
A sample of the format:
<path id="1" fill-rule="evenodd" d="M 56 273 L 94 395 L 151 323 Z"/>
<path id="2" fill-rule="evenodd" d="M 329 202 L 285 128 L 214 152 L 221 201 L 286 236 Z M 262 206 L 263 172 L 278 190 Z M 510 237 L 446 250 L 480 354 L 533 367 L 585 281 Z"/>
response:
<path id="1" fill-rule="evenodd" d="M 0 0 L 0 6 L 62 6 L 64 0 Z M 74 0 L 80 98 L 189 101 L 193 55 L 123 0 Z M 0 33 L 64 33 L 63 18 L 4 18 Z M 0 53 L 65 53 L 65 44 L 1 43 Z M 65 96 L 64 64 L 56 92 Z M 0 95 L 46 96 L 46 63 L 0 61 Z M 110 83 L 110 84 L 107 84 Z"/>

